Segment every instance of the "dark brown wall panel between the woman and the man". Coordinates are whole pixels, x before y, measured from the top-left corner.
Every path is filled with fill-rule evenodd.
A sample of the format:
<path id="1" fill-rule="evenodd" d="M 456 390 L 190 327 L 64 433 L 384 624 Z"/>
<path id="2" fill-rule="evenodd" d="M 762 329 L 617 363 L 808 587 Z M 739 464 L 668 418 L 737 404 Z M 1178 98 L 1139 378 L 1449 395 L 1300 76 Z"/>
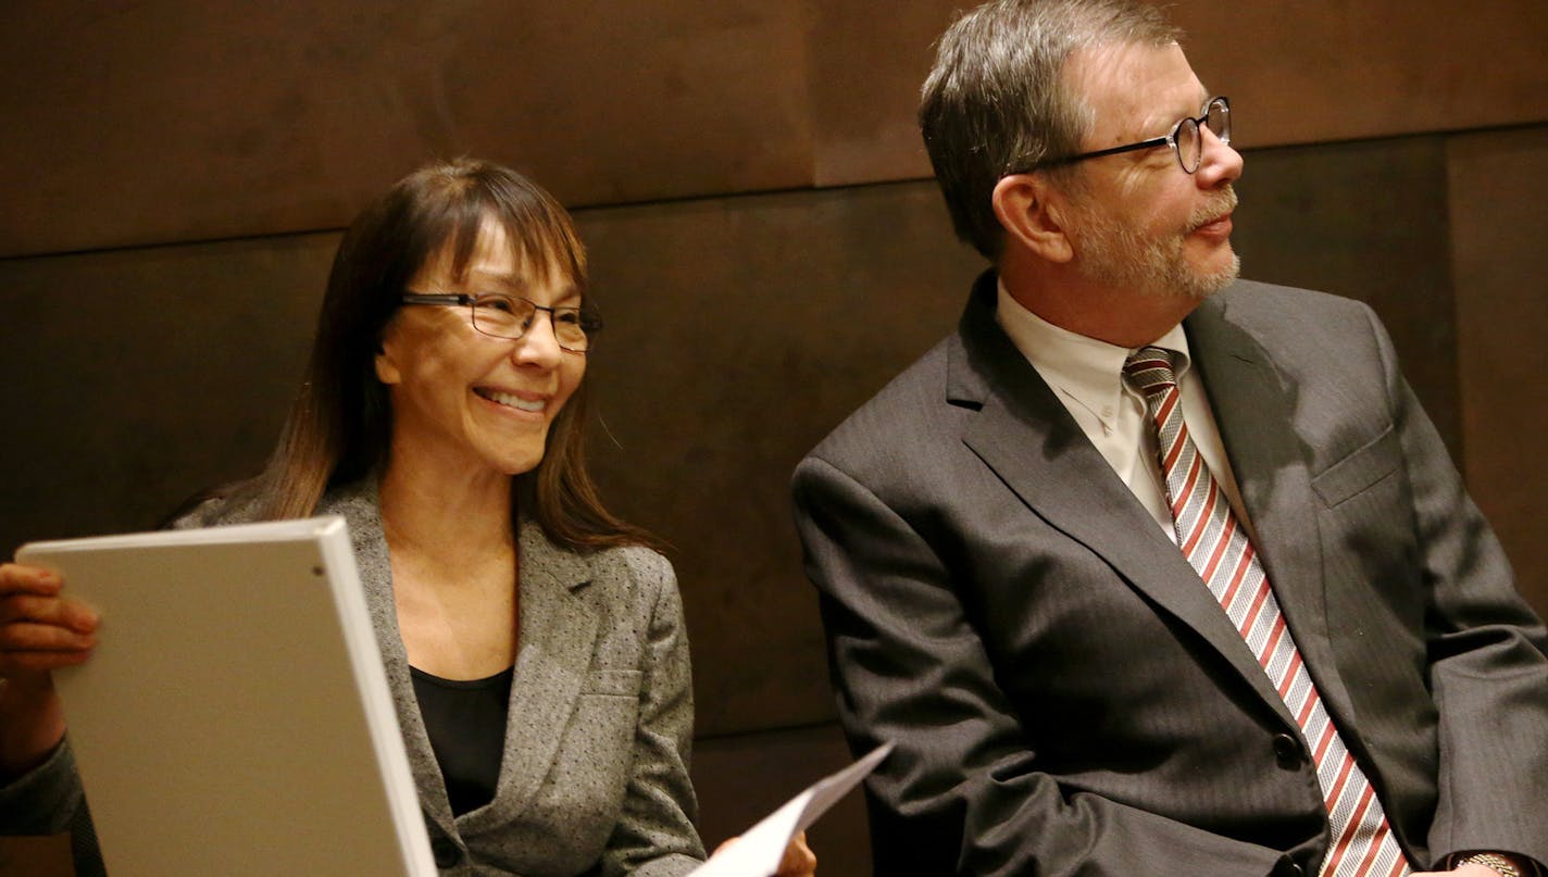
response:
<path id="1" fill-rule="evenodd" d="M 952 325 L 977 269 L 930 184 L 587 210 L 608 329 L 598 476 L 666 538 L 701 733 L 831 716 L 786 483 Z M 619 447 L 621 445 L 621 447 Z"/>

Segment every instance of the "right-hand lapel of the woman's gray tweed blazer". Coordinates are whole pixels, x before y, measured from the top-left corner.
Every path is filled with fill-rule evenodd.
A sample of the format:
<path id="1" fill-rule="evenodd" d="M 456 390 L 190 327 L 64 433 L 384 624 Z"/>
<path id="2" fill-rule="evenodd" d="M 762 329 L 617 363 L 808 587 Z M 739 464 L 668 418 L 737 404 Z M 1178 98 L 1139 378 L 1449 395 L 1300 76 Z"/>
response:
<path id="1" fill-rule="evenodd" d="M 531 521 L 522 521 L 520 575 L 520 653 L 494 807 L 500 818 L 523 810 L 548 776 L 599 633 L 596 613 L 571 594 L 591 580 L 591 568 Z"/>

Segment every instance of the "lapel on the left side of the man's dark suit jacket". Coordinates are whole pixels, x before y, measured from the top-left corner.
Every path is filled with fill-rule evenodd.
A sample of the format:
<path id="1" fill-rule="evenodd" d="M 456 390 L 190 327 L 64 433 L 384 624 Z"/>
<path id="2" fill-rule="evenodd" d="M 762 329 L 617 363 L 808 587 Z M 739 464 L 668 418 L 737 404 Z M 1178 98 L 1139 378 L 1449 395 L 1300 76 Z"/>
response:
<path id="1" fill-rule="evenodd" d="M 986 274 L 947 353 L 950 401 L 981 405 L 963 441 L 1034 514 L 1198 633 L 1294 725 L 1198 572 L 995 323 L 994 294 L 994 275 Z"/>

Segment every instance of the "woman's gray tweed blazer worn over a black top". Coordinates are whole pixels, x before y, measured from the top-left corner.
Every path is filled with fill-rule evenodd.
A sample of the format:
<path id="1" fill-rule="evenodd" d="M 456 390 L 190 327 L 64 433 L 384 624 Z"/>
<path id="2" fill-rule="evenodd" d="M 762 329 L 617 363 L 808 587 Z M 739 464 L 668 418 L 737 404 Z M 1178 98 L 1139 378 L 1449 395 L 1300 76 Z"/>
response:
<path id="1" fill-rule="evenodd" d="M 694 694 L 676 578 L 642 548 L 576 554 L 520 523 L 520 653 L 492 801 L 452 817 L 398 634 L 376 484 L 324 498 L 350 526 L 387 682 L 441 874 L 675 875 L 704 849 L 687 761 Z M 231 523 L 201 509 L 180 526 Z M 74 835 L 76 871 L 102 874 L 68 742 L 0 789 L 5 834 Z"/>

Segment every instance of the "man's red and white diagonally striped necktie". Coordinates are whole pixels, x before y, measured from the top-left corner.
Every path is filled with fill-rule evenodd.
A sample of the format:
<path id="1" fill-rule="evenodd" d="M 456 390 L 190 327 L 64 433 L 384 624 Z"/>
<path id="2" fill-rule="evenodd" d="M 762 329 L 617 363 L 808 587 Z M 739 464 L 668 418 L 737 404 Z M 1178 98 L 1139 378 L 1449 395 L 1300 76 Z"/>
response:
<path id="1" fill-rule="evenodd" d="M 1178 546 L 1220 600 L 1311 746 L 1334 838 L 1319 874 L 1409 874 L 1409 863 L 1370 780 L 1354 764 L 1311 684 L 1252 543 L 1187 435 L 1172 354 L 1158 346 L 1141 348 L 1128 356 L 1124 374 L 1144 394 L 1146 408 L 1155 421 L 1159 439 L 1156 456 L 1172 503 Z"/>

